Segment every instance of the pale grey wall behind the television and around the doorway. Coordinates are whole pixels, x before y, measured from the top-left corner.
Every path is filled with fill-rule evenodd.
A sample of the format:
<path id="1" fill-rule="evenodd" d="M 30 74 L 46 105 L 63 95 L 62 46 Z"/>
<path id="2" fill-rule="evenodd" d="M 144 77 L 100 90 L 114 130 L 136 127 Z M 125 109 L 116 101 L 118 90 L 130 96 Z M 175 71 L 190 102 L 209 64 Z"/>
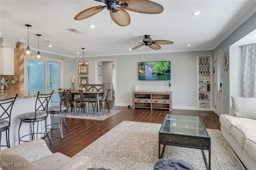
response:
<path id="1" fill-rule="evenodd" d="M 196 55 L 212 55 L 212 51 L 175 53 L 151 53 L 138 55 L 90 57 L 89 82 L 95 80 L 95 60 L 116 59 L 116 105 L 132 105 L 132 91 L 166 91 L 167 81 L 138 80 L 138 62 L 171 61 L 171 90 L 173 108 L 197 109 L 196 107 Z"/>

